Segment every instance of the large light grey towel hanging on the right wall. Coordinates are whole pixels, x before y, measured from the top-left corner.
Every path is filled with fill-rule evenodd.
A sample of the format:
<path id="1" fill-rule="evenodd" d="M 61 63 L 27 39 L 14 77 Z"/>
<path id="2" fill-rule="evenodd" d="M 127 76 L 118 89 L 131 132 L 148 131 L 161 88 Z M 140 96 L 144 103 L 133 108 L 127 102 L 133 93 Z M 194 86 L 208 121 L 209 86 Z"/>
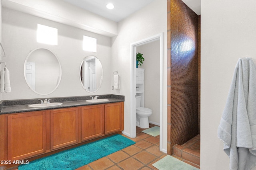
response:
<path id="1" fill-rule="evenodd" d="M 256 65 L 252 58 L 236 64 L 218 137 L 230 157 L 230 170 L 256 166 Z"/>

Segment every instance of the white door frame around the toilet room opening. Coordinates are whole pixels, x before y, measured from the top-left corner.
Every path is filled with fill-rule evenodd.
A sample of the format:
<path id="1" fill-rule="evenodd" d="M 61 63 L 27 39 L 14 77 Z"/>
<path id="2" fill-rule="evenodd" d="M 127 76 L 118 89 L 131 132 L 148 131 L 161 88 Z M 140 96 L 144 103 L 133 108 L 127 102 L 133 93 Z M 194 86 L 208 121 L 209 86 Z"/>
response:
<path id="1" fill-rule="evenodd" d="M 148 44 L 153 41 L 160 40 L 160 98 L 159 98 L 159 115 L 160 115 L 160 145 L 159 148 L 162 152 L 166 152 L 163 150 L 163 33 L 159 33 L 153 35 L 151 37 L 147 37 L 145 39 L 136 41 L 130 44 L 131 48 L 131 72 L 130 72 L 130 128 L 131 128 L 131 137 L 136 137 L 136 53 L 137 47 L 140 45 Z"/>

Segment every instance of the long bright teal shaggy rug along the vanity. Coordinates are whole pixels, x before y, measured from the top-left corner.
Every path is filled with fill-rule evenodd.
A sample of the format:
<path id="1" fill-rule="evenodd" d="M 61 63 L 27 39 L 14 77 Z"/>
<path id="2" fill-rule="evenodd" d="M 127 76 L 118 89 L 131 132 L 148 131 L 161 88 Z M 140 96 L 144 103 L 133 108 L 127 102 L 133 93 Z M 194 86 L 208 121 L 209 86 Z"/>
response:
<path id="1" fill-rule="evenodd" d="M 133 144 L 117 134 L 22 164 L 18 170 L 74 170 Z"/>

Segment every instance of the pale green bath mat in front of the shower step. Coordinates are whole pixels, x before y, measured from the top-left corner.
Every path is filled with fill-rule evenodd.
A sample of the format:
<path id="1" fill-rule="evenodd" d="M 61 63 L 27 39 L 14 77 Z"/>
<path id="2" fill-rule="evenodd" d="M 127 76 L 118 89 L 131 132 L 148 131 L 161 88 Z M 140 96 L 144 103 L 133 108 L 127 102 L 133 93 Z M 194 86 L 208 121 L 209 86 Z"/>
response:
<path id="1" fill-rule="evenodd" d="M 199 170 L 198 168 L 182 162 L 170 155 L 165 156 L 152 165 L 158 170 Z"/>

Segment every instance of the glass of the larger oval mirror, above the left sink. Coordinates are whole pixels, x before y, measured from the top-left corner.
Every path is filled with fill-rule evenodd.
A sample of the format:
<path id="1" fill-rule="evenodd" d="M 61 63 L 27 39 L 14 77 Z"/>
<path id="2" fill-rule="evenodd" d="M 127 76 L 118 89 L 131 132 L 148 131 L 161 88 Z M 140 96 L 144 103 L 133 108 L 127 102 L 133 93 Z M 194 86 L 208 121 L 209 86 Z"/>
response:
<path id="1" fill-rule="evenodd" d="M 60 84 L 60 61 L 49 49 L 34 49 L 25 60 L 24 76 L 29 88 L 35 93 L 51 94 Z"/>

